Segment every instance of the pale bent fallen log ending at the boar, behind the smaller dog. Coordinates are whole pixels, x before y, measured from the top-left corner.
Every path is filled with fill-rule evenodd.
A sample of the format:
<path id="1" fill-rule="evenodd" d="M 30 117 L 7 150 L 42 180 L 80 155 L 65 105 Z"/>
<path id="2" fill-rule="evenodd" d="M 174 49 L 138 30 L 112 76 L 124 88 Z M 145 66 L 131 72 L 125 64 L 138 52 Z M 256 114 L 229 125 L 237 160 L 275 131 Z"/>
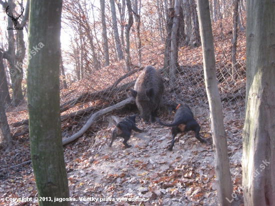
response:
<path id="1" fill-rule="evenodd" d="M 95 119 L 97 117 L 102 116 L 103 114 L 109 113 L 109 112 L 111 112 L 111 111 L 113 111 L 115 109 L 121 108 L 121 107 L 123 107 L 123 106 L 125 106 L 125 105 L 127 105 L 129 103 L 133 103 L 134 101 L 135 101 L 134 98 L 130 97 L 130 98 L 127 98 L 127 99 L 125 99 L 123 101 L 120 101 L 119 103 L 116 103 L 116 104 L 114 104 L 112 106 L 109 106 L 107 108 L 104 108 L 102 110 L 99 110 L 99 111 L 95 112 L 94 114 L 92 114 L 89 117 L 89 119 L 87 120 L 87 122 L 84 124 L 84 126 L 79 131 L 77 131 L 75 134 L 71 135 L 70 137 L 63 139 L 62 140 L 62 144 L 63 145 L 67 144 L 67 143 L 75 140 L 76 138 L 82 136 L 85 133 L 85 131 L 91 126 L 92 122 L 95 121 Z"/>

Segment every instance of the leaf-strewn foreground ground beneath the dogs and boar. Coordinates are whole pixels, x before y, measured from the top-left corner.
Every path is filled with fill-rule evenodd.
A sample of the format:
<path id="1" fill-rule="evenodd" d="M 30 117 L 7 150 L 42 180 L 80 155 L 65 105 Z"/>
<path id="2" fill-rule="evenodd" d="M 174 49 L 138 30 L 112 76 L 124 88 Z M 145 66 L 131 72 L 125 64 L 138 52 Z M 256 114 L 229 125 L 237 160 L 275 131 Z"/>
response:
<path id="1" fill-rule="evenodd" d="M 138 112 L 136 110 L 136 112 Z M 118 114 L 119 113 L 119 114 Z M 118 112 L 122 119 L 126 114 Z M 130 115 L 128 113 L 127 115 Z M 163 119 L 170 122 L 172 115 Z M 165 115 L 168 116 L 168 115 Z M 137 117 L 138 118 L 138 117 Z M 125 148 L 117 138 L 111 148 L 107 146 L 115 121 L 111 116 L 102 122 L 102 129 L 94 137 L 86 132 L 82 137 L 63 147 L 72 205 L 217 205 L 214 176 L 214 154 L 209 126 L 209 113 L 195 113 L 200 124 L 200 136 L 208 143 L 200 143 L 192 131 L 179 135 L 173 150 L 170 127 L 157 123 L 144 124 L 137 119 Z M 241 129 L 243 119 L 224 117 L 227 134 L 230 170 L 234 186 L 233 205 L 242 205 Z M 18 139 L 17 141 L 22 141 Z M 1 156 L 2 165 L 16 160 L 30 159 L 29 141 L 25 139 L 18 148 Z M 20 146 L 20 147 L 19 147 Z M 0 174 L 0 205 L 37 205 L 37 201 L 5 201 L 3 197 L 37 196 L 31 163 L 4 169 Z M 81 198 L 89 198 L 84 201 Z M 116 199 L 117 198 L 117 199 Z M 119 199 L 118 198 L 124 198 Z M 126 199 L 125 199 L 126 198 Z M 139 198 L 139 199 L 138 199 Z M 229 196 L 228 200 L 232 200 Z"/>

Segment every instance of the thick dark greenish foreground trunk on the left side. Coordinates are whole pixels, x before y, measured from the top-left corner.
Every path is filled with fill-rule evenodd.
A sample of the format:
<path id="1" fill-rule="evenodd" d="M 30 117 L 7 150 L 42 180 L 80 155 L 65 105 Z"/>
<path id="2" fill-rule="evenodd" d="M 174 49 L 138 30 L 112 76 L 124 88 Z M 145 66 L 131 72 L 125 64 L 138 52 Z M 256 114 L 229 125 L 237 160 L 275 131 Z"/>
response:
<path id="1" fill-rule="evenodd" d="M 69 197 L 59 112 L 61 9 L 62 0 L 30 1 L 29 45 L 40 48 L 27 68 L 30 151 L 38 198 L 47 200 Z M 39 205 L 70 202 L 39 201 Z"/>

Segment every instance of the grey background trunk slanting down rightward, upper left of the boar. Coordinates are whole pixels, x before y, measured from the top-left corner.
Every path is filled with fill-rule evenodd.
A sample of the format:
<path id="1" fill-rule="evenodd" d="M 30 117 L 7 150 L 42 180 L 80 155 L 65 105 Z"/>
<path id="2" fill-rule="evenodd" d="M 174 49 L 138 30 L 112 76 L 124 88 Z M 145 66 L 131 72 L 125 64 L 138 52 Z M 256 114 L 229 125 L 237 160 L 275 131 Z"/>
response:
<path id="1" fill-rule="evenodd" d="M 124 57 L 123 57 L 123 52 L 121 49 L 121 44 L 120 44 L 120 39 L 118 34 L 114 0 L 110 0 L 110 8 L 111 8 L 112 30 L 113 30 L 114 40 L 115 40 L 115 47 L 118 54 L 118 59 L 121 60 Z"/>

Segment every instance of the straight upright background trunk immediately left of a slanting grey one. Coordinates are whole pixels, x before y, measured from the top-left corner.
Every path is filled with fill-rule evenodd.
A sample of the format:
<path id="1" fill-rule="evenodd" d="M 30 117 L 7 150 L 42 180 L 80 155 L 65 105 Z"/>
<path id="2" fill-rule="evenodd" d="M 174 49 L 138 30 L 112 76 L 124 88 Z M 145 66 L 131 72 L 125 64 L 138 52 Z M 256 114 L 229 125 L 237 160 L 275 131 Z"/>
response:
<path id="1" fill-rule="evenodd" d="M 100 0 L 100 11 L 101 11 L 101 24 L 102 24 L 102 39 L 103 39 L 103 52 L 104 52 L 104 66 L 110 64 L 109 61 L 109 47 L 107 38 L 107 28 L 105 20 L 105 0 Z"/>

